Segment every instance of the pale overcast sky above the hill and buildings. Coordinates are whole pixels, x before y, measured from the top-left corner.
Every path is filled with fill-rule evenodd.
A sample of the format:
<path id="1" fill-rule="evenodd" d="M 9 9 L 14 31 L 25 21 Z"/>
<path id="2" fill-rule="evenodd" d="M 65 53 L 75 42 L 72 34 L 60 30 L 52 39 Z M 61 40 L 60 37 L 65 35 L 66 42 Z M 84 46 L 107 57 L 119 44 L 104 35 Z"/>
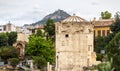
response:
<path id="1" fill-rule="evenodd" d="M 120 0 L 0 0 L 0 25 L 9 21 L 17 26 L 31 24 L 61 9 L 72 15 L 92 20 L 101 11 L 113 15 L 120 11 Z"/>

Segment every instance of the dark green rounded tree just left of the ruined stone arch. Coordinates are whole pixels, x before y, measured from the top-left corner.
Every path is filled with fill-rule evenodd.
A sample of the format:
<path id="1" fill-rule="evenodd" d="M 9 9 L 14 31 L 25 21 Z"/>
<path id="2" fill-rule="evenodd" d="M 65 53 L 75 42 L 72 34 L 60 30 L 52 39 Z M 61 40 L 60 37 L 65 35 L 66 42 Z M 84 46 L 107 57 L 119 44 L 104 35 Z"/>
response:
<path id="1" fill-rule="evenodd" d="M 8 33 L 8 44 L 10 46 L 13 45 L 13 43 L 15 43 L 17 40 L 17 32 L 10 32 Z"/>

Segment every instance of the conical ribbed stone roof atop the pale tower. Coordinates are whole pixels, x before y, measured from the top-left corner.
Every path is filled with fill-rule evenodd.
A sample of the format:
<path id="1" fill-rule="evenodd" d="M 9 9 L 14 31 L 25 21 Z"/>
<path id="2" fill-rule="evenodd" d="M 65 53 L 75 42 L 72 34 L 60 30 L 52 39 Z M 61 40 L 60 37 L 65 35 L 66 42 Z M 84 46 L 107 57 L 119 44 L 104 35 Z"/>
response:
<path id="1" fill-rule="evenodd" d="M 70 16 L 70 17 L 64 19 L 62 22 L 63 23 L 68 23 L 68 22 L 71 22 L 71 23 L 72 22 L 87 22 L 87 20 L 85 20 L 85 19 L 83 19 L 83 18 L 73 14 L 73 16 Z"/>

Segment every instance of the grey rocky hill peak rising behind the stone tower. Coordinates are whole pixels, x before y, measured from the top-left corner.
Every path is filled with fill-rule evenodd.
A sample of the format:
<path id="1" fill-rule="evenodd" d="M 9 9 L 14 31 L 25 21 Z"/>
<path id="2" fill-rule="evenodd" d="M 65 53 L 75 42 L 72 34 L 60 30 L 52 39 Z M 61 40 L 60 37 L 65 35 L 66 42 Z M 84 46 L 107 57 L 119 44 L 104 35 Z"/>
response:
<path id="1" fill-rule="evenodd" d="M 58 9 L 57 11 L 45 16 L 41 21 L 34 23 L 36 24 L 45 24 L 48 19 L 53 19 L 55 22 L 59 22 L 64 20 L 65 18 L 69 17 L 70 15 L 66 13 L 64 10 Z"/>

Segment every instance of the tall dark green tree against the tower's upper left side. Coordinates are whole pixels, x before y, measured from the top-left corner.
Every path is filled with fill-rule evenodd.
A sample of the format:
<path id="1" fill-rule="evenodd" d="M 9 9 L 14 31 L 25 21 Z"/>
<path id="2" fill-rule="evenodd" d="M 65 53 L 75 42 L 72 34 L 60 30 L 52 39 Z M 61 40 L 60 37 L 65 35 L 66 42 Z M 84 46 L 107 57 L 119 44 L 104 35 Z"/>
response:
<path id="1" fill-rule="evenodd" d="M 52 39 L 54 41 L 55 39 L 55 22 L 52 19 L 48 19 L 45 24 L 45 33 L 47 39 Z"/>

